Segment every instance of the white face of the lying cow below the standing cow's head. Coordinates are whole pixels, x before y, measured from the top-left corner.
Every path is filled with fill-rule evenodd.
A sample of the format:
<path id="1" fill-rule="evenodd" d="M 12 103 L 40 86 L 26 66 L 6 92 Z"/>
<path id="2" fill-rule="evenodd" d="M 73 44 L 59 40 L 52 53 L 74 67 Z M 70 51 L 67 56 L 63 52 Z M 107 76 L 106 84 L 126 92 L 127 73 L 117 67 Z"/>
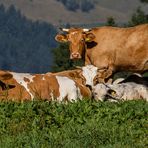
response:
<path id="1" fill-rule="evenodd" d="M 82 75 L 86 79 L 86 85 L 94 86 L 93 80 L 97 75 L 97 67 L 93 65 L 86 65 L 82 67 Z"/>

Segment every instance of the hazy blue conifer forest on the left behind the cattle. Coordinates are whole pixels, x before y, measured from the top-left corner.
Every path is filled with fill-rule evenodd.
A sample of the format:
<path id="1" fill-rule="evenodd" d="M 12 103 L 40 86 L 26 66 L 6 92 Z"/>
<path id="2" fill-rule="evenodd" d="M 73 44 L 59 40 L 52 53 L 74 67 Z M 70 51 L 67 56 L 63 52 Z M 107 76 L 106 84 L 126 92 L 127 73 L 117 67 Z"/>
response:
<path id="1" fill-rule="evenodd" d="M 0 5 L 0 69 L 42 73 L 51 70 L 56 29 L 28 20 L 14 6 Z"/>

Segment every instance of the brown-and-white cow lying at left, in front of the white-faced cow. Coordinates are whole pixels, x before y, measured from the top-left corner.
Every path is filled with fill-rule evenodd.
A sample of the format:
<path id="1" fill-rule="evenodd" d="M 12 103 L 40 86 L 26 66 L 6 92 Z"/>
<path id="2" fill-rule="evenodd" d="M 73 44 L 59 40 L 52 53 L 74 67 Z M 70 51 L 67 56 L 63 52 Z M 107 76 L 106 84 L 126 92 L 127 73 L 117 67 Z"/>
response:
<path id="1" fill-rule="evenodd" d="M 41 98 L 63 101 L 91 97 L 89 88 L 66 76 L 0 71 L 0 100 Z"/>

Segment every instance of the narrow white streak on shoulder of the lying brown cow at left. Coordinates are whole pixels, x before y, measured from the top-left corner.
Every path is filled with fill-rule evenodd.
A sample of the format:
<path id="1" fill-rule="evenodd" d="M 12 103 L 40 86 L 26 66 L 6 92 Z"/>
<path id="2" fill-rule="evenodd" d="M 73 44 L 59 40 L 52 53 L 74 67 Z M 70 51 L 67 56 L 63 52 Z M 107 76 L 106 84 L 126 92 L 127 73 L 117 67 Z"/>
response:
<path id="1" fill-rule="evenodd" d="M 31 99 L 34 98 L 34 96 L 32 95 L 32 93 L 30 92 L 30 90 L 28 89 L 28 82 L 24 81 L 24 78 L 27 78 L 30 80 L 30 82 L 33 82 L 33 77 L 31 74 L 29 73 L 15 73 L 15 72 L 10 72 L 13 75 L 13 78 L 22 86 L 25 87 L 26 91 L 30 94 Z M 29 82 L 29 83 L 30 83 Z"/>

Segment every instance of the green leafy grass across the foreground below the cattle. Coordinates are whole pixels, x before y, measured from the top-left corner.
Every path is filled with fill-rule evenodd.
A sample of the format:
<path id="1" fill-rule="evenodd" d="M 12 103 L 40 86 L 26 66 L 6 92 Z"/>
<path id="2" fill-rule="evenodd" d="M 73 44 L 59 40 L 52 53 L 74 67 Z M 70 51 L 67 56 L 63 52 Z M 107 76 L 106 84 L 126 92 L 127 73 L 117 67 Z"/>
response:
<path id="1" fill-rule="evenodd" d="M 142 148 L 148 103 L 0 102 L 0 148 Z"/>

